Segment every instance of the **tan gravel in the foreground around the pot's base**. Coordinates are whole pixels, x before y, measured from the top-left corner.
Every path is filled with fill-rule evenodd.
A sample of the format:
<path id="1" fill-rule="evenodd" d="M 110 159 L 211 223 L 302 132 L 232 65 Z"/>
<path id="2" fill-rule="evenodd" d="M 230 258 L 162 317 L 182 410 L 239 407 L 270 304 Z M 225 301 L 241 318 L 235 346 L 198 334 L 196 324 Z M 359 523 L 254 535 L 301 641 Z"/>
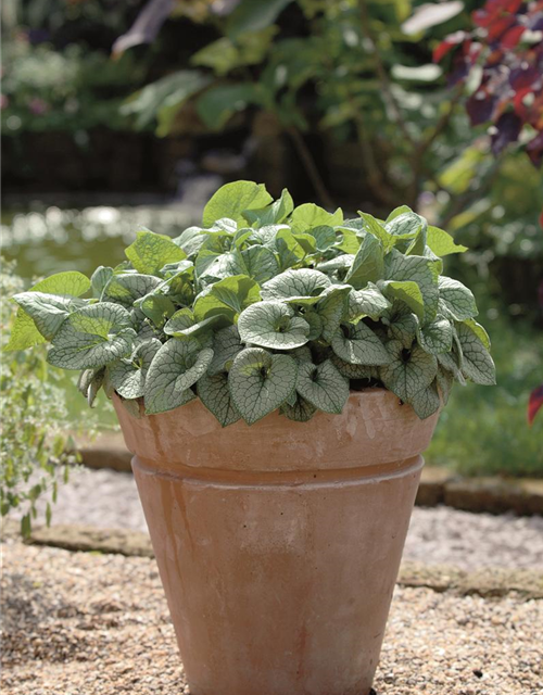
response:
<path id="1" fill-rule="evenodd" d="M 3 545 L 5 695 L 189 693 L 153 560 Z M 541 695 L 543 602 L 396 587 L 377 695 Z M 219 693 L 217 693 L 219 695 Z"/>

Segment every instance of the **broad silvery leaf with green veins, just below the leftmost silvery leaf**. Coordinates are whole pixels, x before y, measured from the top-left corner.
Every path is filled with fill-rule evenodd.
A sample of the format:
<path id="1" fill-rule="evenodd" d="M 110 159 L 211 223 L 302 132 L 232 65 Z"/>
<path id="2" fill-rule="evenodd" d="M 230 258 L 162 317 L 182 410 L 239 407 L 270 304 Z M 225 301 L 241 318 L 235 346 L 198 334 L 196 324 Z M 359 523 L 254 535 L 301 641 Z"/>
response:
<path id="1" fill-rule="evenodd" d="M 71 314 L 53 338 L 48 362 L 63 369 L 102 367 L 131 352 L 136 331 L 130 315 L 117 304 L 101 302 Z"/>

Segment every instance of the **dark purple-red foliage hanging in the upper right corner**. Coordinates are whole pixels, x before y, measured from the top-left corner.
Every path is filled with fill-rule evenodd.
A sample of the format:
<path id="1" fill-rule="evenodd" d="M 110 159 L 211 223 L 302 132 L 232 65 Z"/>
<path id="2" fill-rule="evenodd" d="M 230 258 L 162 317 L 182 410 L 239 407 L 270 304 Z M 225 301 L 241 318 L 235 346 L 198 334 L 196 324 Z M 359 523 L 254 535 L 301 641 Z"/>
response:
<path id="1" fill-rule="evenodd" d="M 471 125 L 492 123 L 492 151 L 516 142 L 525 125 L 535 130 L 526 147 L 532 163 L 543 161 L 543 0 L 488 0 L 472 15 L 471 31 L 456 31 L 433 53 L 454 52 L 451 85 L 478 76 L 466 109 Z M 477 77 L 476 77 L 477 79 Z M 471 85 L 471 87 L 473 87 Z"/>

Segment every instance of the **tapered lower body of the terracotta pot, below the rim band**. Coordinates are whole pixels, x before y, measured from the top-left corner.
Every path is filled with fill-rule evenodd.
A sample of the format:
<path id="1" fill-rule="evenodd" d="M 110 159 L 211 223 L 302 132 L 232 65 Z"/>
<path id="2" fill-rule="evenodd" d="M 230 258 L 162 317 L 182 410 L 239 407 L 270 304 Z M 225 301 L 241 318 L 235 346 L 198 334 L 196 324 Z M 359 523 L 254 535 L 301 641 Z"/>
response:
<path id="1" fill-rule="evenodd" d="M 368 695 L 422 467 L 132 468 L 193 695 Z"/>

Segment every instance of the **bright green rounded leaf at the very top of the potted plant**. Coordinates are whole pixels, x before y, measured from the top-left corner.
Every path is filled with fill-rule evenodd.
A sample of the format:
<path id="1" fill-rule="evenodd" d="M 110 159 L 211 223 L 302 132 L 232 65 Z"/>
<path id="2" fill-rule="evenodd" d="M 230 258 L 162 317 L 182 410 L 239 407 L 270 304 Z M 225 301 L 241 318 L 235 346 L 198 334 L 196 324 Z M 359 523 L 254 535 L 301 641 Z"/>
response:
<path id="1" fill-rule="evenodd" d="M 243 212 L 258 210 L 273 201 L 263 184 L 252 181 L 233 181 L 226 184 L 211 198 L 204 207 L 204 227 L 211 227 L 216 219 L 229 217 L 242 224 Z"/>

